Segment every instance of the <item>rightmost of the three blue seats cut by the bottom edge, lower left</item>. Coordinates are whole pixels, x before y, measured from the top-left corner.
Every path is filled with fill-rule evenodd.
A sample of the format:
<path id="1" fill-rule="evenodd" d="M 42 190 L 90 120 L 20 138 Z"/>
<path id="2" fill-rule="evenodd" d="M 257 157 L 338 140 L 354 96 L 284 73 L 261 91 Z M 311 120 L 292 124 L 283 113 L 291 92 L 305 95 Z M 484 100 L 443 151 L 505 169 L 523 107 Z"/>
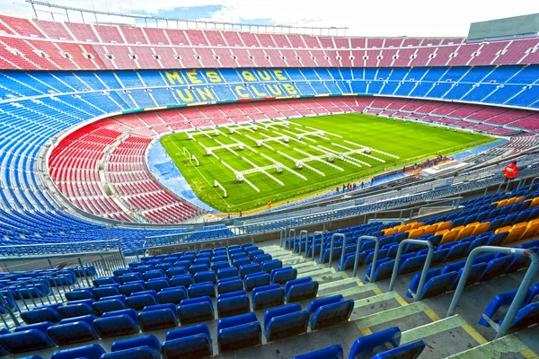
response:
<path id="1" fill-rule="evenodd" d="M 168 331 L 161 351 L 165 359 L 195 359 L 213 355 L 208 325 L 198 324 Z"/>

